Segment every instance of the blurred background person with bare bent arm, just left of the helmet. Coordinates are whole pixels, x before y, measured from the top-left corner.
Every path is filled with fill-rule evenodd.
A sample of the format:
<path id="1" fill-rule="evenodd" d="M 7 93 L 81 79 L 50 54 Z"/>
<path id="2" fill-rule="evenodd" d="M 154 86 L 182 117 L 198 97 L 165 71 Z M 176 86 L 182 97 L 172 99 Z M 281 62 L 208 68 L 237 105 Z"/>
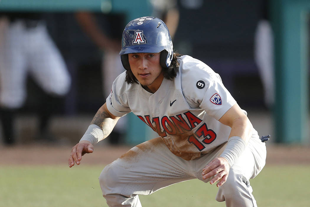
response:
<path id="1" fill-rule="evenodd" d="M 95 45 L 103 52 L 102 55 L 102 79 L 103 95 L 107 97 L 111 92 L 113 80 L 124 71 L 118 52 L 121 48 L 120 34 L 124 27 L 124 15 L 104 15 L 108 24 L 100 25 L 98 17 L 90 11 L 78 11 L 75 14 L 76 20 L 84 32 L 91 38 Z M 118 122 L 115 130 L 108 137 L 112 145 L 121 143 L 126 133 L 127 117 Z"/>

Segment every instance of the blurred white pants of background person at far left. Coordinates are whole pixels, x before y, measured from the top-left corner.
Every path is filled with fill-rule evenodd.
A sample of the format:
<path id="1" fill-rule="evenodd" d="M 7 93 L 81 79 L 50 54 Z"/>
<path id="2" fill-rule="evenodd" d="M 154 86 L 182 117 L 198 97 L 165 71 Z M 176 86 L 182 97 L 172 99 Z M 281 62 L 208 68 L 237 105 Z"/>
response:
<path id="1" fill-rule="evenodd" d="M 0 104 L 20 108 L 26 98 L 26 78 L 30 74 L 42 89 L 65 95 L 70 75 L 65 62 L 47 33 L 45 24 L 26 28 L 22 20 L 10 23 L 0 50 Z"/>

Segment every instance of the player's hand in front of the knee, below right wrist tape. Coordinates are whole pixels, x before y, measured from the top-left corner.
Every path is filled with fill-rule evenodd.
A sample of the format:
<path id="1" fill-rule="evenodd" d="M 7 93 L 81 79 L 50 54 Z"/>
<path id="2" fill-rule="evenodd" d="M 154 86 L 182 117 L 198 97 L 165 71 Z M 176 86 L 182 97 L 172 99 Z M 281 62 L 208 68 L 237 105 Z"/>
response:
<path id="1" fill-rule="evenodd" d="M 214 158 L 209 164 L 206 165 L 204 169 L 202 169 L 202 179 L 208 179 L 212 176 L 216 175 L 212 180 L 210 180 L 210 184 L 212 185 L 215 182 L 217 187 L 226 182 L 230 166 L 228 161 L 224 157 Z"/>

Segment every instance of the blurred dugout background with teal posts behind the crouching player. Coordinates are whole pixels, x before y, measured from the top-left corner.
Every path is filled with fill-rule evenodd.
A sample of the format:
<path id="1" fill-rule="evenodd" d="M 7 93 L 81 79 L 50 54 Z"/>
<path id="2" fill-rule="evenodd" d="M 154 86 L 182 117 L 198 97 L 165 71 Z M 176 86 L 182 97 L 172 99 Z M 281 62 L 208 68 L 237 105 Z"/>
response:
<path id="1" fill-rule="evenodd" d="M 309 11 L 306 0 L 1 0 L 0 145 L 77 143 L 124 71 L 125 25 L 157 16 L 175 51 L 220 74 L 260 136 L 308 146 Z M 102 144 L 155 136 L 128 114 Z"/>

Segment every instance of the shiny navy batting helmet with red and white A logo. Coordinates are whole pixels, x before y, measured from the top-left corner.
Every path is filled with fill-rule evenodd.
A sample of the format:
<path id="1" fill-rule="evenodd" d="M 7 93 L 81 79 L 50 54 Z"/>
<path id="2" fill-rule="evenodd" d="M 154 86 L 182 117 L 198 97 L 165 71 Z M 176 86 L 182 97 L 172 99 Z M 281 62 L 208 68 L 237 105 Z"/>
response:
<path id="1" fill-rule="evenodd" d="M 173 45 L 166 24 L 157 17 L 144 16 L 130 21 L 122 35 L 119 52 L 124 68 L 130 70 L 129 53 L 161 52 L 160 64 L 168 68 L 173 57 Z"/>

